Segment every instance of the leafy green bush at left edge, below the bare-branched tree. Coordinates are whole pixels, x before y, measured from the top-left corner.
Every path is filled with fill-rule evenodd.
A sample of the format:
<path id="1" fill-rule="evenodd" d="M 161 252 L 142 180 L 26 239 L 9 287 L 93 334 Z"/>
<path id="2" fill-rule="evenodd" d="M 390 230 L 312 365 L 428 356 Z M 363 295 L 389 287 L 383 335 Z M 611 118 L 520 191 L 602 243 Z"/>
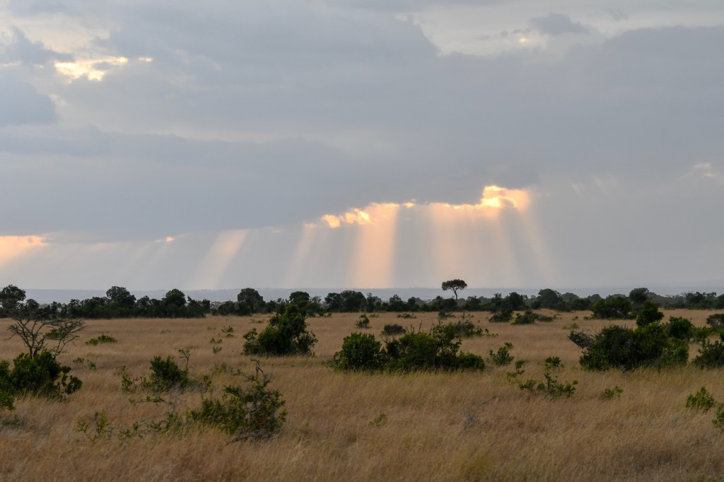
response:
<path id="1" fill-rule="evenodd" d="M 4 392 L 3 405 L 15 395 L 62 399 L 76 392 L 83 382 L 69 376 L 71 368 L 61 365 L 53 354 L 44 350 L 35 358 L 21 353 L 14 360 L 12 371 L 7 361 L 0 363 L 0 392 Z M 11 402 L 12 405 L 12 402 Z"/>

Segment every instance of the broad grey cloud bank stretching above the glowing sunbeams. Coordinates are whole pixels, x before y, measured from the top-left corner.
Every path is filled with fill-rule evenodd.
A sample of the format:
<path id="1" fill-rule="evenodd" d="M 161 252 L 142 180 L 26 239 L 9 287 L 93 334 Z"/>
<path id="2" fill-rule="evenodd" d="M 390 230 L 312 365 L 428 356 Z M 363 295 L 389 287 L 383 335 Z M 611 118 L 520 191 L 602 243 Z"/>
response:
<path id="1" fill-rule="evenodd" d="M 641 28 L 562 56 L 442 56 L 413 22 L 348 3 L 11 2 L 107 22 L 92 48 L 129 62 L 68 81 L 52 62 L 70 54 L 8 37 L 0 203 L 17 208 L 0 235 L 153 240 L 376 201 L 468 203 L 489 184 L 563 211 L 583 196 L 617 236 L 628 210 L 715 216 L 702 198 L 721 200 L 724 27 Z M 555 12 L 527 22 L 587 30 Z M 559 214 L 543 224 L 567 226 Z"/>

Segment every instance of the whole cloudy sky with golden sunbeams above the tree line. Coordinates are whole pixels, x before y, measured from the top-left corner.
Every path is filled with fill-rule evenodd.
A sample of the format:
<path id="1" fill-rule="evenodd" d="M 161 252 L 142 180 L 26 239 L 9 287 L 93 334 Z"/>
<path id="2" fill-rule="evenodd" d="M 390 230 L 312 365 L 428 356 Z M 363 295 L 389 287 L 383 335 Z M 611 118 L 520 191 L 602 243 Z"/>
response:
<path id="1" fill-rule="evenodd" d="M 0 285 L 724 287 L 720 0 L 0 0 Z"/>

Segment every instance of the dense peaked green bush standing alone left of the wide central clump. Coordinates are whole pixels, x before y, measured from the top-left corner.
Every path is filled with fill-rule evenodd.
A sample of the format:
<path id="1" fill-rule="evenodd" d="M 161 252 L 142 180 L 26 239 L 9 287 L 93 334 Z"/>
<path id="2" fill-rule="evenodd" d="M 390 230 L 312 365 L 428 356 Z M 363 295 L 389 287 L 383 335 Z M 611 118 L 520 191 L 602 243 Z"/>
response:
<path id="1" fill-rule="evenodd" d="M 269 319 L 266 327 L 257 333 L 256 329 L 244 335 L 245 355 L 291 356 L 313 355 L 316 336 L 307 331 L 306 316 L 296 305 L 288 305 L 285 312 Z"/>

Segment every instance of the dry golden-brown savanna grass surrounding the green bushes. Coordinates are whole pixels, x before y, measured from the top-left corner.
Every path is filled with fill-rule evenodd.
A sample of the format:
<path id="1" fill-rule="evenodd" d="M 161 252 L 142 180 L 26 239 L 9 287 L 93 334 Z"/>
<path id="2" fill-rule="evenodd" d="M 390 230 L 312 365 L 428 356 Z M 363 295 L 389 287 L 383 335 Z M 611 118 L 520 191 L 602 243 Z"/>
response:
<path id="1" fill-rule="evenodd" d="M 667 310 L 704 325 L 711 311 Z M 553 314 L 552 312 L 549 314 Z M 145 434 L 120 440 L 133 423 L 163 418 L 169 407 L 131 404 L 121 389 L 120 368 L 132 376 L 148 373 L 156 356 L 190 349 L 190 373 L 212 376 L 214 392 L 243 377 L 222 364 L 253 373 L 251 357 L 240 355 L 242 335 L 261 328 L 263 316 L 203 319 L 119 319 L 88 321 L 79 342 L 59 356 L 83 387 L 67 401 L 17 399 L 16 423 L 0 427 L 0 480 L 3 481 L 236 481 L 236 480 L 720 480 L 724 476 L 724 434 L 712 426 L 713 413 L 685 408 L 686 397 L 702 386 L 724 400 L 721 371 L 689 365 L 663 371 L 622 373 L 581 371 L 580 349 L 567 339 L 573 323 L 597 331 L 611 321 L 584 321 L 589 312 L 559 313 L 551 323 L 492 324 L 487 313 L 473 321 L 497 337 L 463 341 L 462 350 L 482 355 L 482 373 L 408 375 L 340 373 L 323 364 L 355 329 L 358 315 L 338 313 L 308 318 L 319 342 L 313 358 L 262 358 L 273 376 L 270 387 L 286 401 L 282 432 L 266 441 L 230 442 L 212 428 L 183 434 Z M 459 314 L 458 314 L 459 316 Z M 577 317 L 574 319 L 574 317 Z M 370 318 L 376 334 L 384 324 L 429 329 L 435 313 L 400 319 L 394 313 Z M 615 322 L 633 324 L 633 321 Z M 0 329 L 10 324 L 0 321 Z M 225 327 L 233 328 L 226 337 Z M 228 329 L 227 329 L 228 331 Z M 84 344 L 106 334 L 115 344 Z M 222 339 L 212 344 L 211 339 Z M 543 378 L 544 360 L 557 356 L 560 381 L 577 380 L 572 397 L 551 399 L 523 392 L 495 368 L 489 350 L 504 342 L 527 360 L 521 379 Z M 214 353 L 213 347 L 222 347 Z M 18 339 L 0 342 L 0 358 L 22 351 Z M 696 355 L 691 345 L 690 358 Z M 85 364 L 72 360 L 83 358 Z M 91 370 L 88 360 L 96 364 Z M 182 363 L 182 360 L 180 360 Z M 603 399 L 619 386 L 620 397 Z M 201 393 L 174 398 L 177 410 L 195 408 Z M 78 422 L 104 411 L 114 426 L 109 437 L 91 441 Z"/>

